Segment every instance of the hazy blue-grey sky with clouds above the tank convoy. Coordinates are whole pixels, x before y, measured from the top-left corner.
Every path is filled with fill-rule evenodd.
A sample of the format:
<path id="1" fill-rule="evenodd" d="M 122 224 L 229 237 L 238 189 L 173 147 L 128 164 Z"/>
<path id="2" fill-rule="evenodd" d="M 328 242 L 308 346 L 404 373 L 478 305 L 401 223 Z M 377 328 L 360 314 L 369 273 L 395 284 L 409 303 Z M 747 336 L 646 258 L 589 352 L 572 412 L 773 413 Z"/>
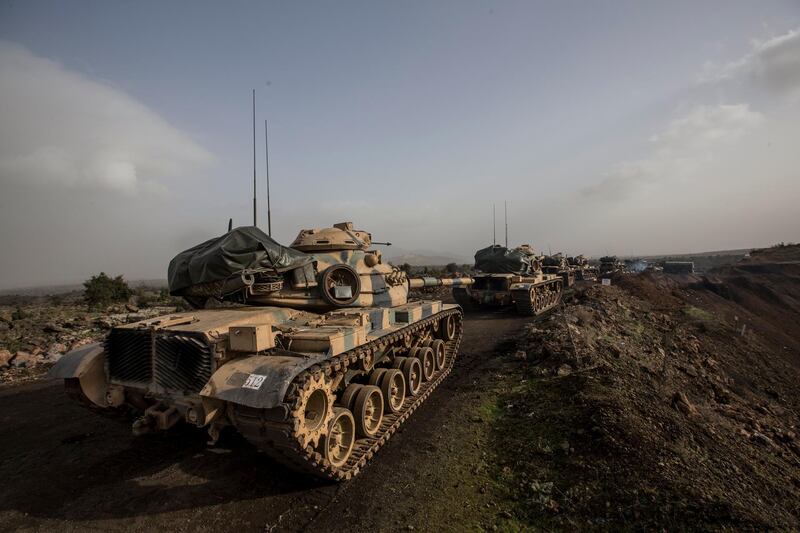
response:
<path id="1" fill-rule="evenodd" d="M 0 289 L 258 225 L 468 261 L 800 241 L 800 2 L 0 0 Z"/>

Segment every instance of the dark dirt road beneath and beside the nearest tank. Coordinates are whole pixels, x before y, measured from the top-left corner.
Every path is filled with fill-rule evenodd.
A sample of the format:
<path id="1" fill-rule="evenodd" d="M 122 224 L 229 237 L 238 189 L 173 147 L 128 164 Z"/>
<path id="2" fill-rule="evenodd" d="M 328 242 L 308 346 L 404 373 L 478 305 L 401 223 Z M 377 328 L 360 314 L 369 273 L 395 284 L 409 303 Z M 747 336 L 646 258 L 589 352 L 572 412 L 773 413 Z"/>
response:
<path id="1" fill-rule="evenodd" d="M 453 373 L 343 485 L 296 475 L 235 434 L 214 448 L 191 428 L 134 438 L 128 426 L 74 406 L 58 383 L 0 388 L 0 530 L 419 530 L 430 523 L 425 513 L 455 528 L 448 516 L 462 510 L 425 504 L 445 490 L 448 458 L 472 453 L 473 413 L 464 406 L 480 397 L 493 356 L 526 321 L 468 316 Z"/>

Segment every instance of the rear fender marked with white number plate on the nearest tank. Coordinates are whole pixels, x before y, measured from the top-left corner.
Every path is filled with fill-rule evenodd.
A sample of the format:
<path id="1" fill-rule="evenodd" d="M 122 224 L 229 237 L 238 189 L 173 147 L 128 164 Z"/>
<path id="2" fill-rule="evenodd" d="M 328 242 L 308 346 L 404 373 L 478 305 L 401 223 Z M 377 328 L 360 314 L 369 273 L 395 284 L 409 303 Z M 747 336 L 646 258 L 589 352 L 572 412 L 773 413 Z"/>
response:
<path id="1" fill-rule="evenodd" d="M 256 409 L 272 409 L 283 402 L 289 384 L 303 370 L 327 359 L 327 354 L 252 355 L 221 366 L 208 380 L 200 396 Z M 205 402 L 211 405 L 215 402 Z"/>

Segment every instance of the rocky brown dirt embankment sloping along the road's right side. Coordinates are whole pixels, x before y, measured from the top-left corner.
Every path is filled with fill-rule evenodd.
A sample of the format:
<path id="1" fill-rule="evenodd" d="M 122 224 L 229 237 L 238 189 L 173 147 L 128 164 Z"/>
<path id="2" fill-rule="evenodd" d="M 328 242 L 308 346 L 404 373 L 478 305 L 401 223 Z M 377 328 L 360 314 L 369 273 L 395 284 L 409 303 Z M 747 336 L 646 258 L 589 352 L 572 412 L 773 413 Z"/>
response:
<path id="1" fill-rule="evenodd" d="M 800 528 L 800 277 L 621 276 L 519 339 L 491 428 L 511 527 Z"/>

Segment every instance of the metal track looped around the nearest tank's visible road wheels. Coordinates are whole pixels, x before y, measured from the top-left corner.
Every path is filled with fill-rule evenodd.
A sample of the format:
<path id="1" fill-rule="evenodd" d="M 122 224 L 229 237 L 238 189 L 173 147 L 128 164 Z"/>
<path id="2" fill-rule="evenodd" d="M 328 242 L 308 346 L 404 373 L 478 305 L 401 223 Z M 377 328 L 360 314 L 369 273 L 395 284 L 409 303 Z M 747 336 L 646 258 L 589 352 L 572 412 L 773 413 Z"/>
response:
<path id="1" fill-rule="evenodd" d="M 369 360 L 376 351 L 383 350 L 386 347 L 410 348 L 410 345 L 415 344 L 415 337 L 417 340 L 422 340 L 421 335 L 423 333 L 436 331 L 436 326 L 439 325 L 440 321 L 449 316 L 455 317 L 456 328 L 453 338 L 445 341 L 447 356 L 445 367 L 438 370 L 430 381 L 423 382 L 415 396 L 406 396 L 402 408 L 397 413 L 384 413 L 380 429 L 373 437 L 357 439 L 353 451 L 344 465 L 334 467 L 313 445 L 303 446 L 301 439 L 296 436 L 296 427 L 299 421 L 293 418 L 291 413 L 300 402 L 298 392 L 302 391 L 303 387 L 307 386 L 307 383 L 318 379 L 320 374 L 329 377 L 334 383 L 338 383 L 349 367 L 355 367 L 361 361 Z M 403 422 L 422 405 L 431 392 L 450 374 L 458 355 L 458 347 L 463 335 L 462 318 L 463 315 L 460 309 L 442 311 L 392 332 L 385 337 L 341 353 L 298 375 L 292 382 L 286 393 L 284 403 L 280 407 L 275 409 L 255 409 L 229 404 L 228 417 L 248 441 L 278 462 L 294 470 L 324 479 L 333 481 L 351 479 L 364 468 Z M 443 328 L 443 324 L 439 325 L 439 328 Z M 374 372 L 377 369 L 379 367 L 372 368 L 370 372 Z"/>

